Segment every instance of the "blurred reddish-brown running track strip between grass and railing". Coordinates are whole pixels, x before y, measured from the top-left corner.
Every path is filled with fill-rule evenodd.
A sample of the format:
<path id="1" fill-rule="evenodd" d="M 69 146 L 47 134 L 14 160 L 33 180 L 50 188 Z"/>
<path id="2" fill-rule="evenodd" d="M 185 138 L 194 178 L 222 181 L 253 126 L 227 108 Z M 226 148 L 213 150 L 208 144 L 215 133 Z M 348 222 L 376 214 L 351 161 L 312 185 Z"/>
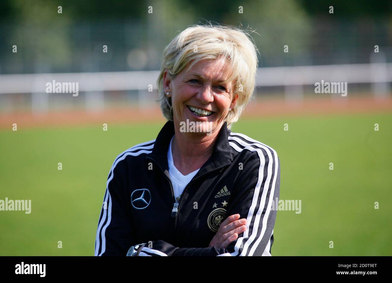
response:
<path id="1" fill-rule="evenodd" d="M 305 99 L 299 102 L 280 100 L 252 101 L 242 117 L 273 117 L 284 115 L 319 115 L 352 113 L 392 112 L 392 98 L 342 97 L 342 99 Z M 12 128 L 18 124 L 22 128 L 73 126 L 96 123 L 135 123 L 142 121 L 165 121 L 160 109 L 113 108 L 102 112 L 82 110 L 56 111 L 42 114 L 13 112 L 0 114 L 0 128 Z"/>

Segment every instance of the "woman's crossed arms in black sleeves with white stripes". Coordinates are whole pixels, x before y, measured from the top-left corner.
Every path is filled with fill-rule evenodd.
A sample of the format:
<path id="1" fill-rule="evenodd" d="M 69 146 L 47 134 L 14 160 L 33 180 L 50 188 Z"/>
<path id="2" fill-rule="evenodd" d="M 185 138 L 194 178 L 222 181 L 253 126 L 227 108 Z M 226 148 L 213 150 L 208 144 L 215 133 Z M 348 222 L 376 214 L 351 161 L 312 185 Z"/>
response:
<path id="1" fill-rule="evenodd" d="M 260 155 L 260 153 L 258 153 Z M 273 242 L 273 227 L 276 211 L 272 210 L 272 200 L 279 198 L 279 159 L 263 158 L 249 160 L 249 170 L 241 177 L 241 190 L 232 195 L 232 204 L 227 210 L 230 215 L 220 225 L 209 247 L 181 248 L 162 240 L 142 245 L 138 256 L 270 256 Z M 247 165 L 247 166 L 248 166 Z M 113 177 L 114 176 L 114 177 Z M 120 177 L 116 170 L 109 173 L 104 203 L 96 234 L 96 256 L 126 255 L 131 242 L 129 235 L 135 231 L 129 226 L 129 215 L 125 207 Z M 119 217 L 112 218 L 112 215 Z M 120 216 L 124 217 L 120 217 Z M 240 217 L 246 222 L 241 223 Z M 122 219 L 122 220 L 121 220 Z M 240 230 L 245 227 L 245 230 Z M 106 230 L 111 233 L 106 233 Z M 126 247 L 126 250 L 124 249 Z"/>

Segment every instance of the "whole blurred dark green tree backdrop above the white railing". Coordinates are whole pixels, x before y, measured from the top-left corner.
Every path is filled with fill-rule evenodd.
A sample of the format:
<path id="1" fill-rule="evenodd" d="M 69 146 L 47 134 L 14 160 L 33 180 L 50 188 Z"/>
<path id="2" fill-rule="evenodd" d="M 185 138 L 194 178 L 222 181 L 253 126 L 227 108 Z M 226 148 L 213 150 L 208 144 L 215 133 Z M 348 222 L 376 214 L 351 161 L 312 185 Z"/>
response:
<path id="1" fill-rule="evenodd" d="M 358 42 L 369 34 L 378 44 L 390 43 L 391 6 L 390 0 L 1 0 L 0 72 L 156 70 L 165 45 L 199 21 L 255 29 L 260 66 L 331 63 L 336 52 L 339 58 L 354 54 L 357 62 L 368 52 L 355 53 Z M 376 23 L 384 16 L 388 25 Z M 367 23 L 372 26 L 363 29 Z M 14 44 L 18 55 L 9 56 Z M 109 44 L 107 56 L 103 44 Z M 315 60 L 317 52 L 329 61 Z"/>

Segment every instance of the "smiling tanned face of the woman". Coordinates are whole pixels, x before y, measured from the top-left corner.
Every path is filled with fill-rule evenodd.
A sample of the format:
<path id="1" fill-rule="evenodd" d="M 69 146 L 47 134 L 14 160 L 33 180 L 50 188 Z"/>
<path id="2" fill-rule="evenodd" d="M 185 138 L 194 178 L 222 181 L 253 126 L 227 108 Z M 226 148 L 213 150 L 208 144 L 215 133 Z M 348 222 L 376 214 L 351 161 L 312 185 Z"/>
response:
<path id="1" fill-rule="evenodd" d="M 232 94 L 233 83 L 223 83 L 230 75 L 225 58 L 200 60 L 191 69 L 189 63 L 174 79 L 167 70 L 163 75 L 165 92 L 172 100 L 173 120 L 176 127 L 181 122 L 207 122 L 212 133 L 220 130 L 229 108 L 234 108 L 238 95 Z M 203 123 L 203 127 L 207 125 Z M 207 129 L 198 132 L 208 132 Z M 202 134 L 202 133 L 193 133 Z"/>

